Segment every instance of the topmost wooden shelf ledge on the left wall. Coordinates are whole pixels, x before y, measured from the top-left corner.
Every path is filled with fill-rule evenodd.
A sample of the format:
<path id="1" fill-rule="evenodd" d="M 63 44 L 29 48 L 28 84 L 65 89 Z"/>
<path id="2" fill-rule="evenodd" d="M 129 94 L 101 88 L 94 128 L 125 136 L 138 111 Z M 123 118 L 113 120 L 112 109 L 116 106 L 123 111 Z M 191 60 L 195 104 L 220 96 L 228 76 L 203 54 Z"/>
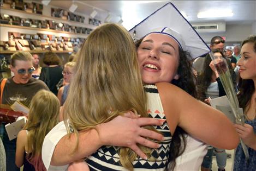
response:
<path id="1" fill-rule="evenodd" d="M 77 21 L 72 21 L 72 20 L 63 20 L 62 18 L 58 18 L 58 17 L 52 17 L 52 16 L 46 16 L 46 15 L 41 15 L 41 14 L 36 14 L 36 13 L 30 13 L 30 12 L 26 12 L 23 10 L 17 10 L 17 9 L 12 9 L 12 8 L 0 8 L 1 10 L 9 10 L 9 11 L 15 11 L 15 12 L 21 12 L 23 14 L 28 14 L 28 15 L 34 15 L 34 16 L 40 16 L 40 17 L 44 17 L 44 18 L 49 18 L 51 20 L 59 20 L 62 21 L 63 23 L 73 23 L 73 24 L 83 24 L 84 27 L 86 28 L 90 28 L 90 29 L 95 29 L 97 26 L 91 25 L 91 24 L 86 24 L 86 23 L 81 23 L 81 22 L 77 22 Z M 1 12 L 2 13 L 2 12 Z M 82 27 L 82 26 L 79 26 Z"/>

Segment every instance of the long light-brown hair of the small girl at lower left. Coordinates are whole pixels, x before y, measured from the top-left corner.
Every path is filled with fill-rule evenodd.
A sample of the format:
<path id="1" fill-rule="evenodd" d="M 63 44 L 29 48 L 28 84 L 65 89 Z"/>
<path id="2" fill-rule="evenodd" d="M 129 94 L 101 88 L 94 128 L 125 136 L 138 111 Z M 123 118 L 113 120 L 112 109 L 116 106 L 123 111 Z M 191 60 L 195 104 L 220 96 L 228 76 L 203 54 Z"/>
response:
<path id="1" fill-rule="evenodd" d="M 28 121 L 24 130 L 28 130 L 27 147 L 28 161 L 34 164 L 36 170 L 43 164 L 41 161 L 41 149 L 44 137 L 58 124 L 59 100 L 50 91 L 40 90 L 31 100 L 29 106 Z"/>

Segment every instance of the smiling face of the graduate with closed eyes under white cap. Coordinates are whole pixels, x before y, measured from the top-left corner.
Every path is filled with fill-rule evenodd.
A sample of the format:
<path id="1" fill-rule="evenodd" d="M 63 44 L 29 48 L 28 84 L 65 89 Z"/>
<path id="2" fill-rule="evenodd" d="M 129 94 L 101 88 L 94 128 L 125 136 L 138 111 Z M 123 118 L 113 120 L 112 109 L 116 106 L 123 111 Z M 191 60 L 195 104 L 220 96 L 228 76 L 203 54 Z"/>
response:
<path id="1" fill-rule="evenodd" d="M 178 43 L 170 36 L 147 35 L 137 50 L 142 80 L 146 84 L 178 79 Z"/>

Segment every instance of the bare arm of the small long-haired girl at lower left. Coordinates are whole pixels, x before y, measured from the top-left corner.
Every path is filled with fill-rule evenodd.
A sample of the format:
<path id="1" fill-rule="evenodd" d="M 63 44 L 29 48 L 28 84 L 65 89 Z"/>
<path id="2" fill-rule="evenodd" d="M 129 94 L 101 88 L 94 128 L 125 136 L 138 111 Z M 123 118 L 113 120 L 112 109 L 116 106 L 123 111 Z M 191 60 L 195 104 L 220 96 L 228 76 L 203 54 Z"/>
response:
<path id="1" fill-rule="evenodd" d="M 27 141 L 27 132 L 26 130 L 21 130 L 17 135 L 16 142 L 16 154 L 15 154 L 15 164 L 17 167 L 23 165 L 24 153 L 25 153 L 25 144 Z"/>

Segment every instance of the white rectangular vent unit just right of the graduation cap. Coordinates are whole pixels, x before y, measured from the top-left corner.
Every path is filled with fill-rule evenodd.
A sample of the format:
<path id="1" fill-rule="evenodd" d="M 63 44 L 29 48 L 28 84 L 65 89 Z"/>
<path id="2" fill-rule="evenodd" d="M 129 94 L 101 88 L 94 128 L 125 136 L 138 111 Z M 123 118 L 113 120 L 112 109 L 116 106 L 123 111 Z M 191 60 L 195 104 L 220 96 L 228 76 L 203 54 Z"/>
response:
<path id="1" fill-rule="evenodd" d="M 226 23 L 197 23 L 192 24 L 193 28 L 198 31 L 198 33 L 217 33 L 226 31 Z"/>

